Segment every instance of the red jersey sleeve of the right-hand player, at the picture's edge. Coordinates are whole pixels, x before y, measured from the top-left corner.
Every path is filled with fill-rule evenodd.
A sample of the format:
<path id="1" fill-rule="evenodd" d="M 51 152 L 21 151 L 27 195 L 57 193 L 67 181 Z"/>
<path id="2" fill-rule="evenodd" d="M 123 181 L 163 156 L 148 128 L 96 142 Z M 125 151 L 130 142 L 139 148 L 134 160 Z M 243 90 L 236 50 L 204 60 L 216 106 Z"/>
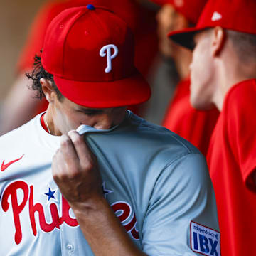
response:
<path id="1" fill-rule="evenodd" d="M 232 116 L 228 122 L 231 151 L 238 161 L 245 186 L 256 192 L 253 174 L 256 171 L 256 119 L 255 119 L 256 82 L 250 80 L 237 85 L 228 97 L 228 111 Z"/>

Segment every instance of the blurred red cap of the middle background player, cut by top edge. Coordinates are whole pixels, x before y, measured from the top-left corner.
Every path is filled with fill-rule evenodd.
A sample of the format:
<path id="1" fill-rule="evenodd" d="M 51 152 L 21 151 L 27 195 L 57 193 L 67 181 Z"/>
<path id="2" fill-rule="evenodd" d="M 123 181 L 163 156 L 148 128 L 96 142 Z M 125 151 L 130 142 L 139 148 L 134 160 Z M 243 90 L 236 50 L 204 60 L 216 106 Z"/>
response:
<path id="1" fill-rule="evenodd" d="M 196 24 L 207 0 L 152 0 L 156 4 L 171 4 L 191 23 Z"/>

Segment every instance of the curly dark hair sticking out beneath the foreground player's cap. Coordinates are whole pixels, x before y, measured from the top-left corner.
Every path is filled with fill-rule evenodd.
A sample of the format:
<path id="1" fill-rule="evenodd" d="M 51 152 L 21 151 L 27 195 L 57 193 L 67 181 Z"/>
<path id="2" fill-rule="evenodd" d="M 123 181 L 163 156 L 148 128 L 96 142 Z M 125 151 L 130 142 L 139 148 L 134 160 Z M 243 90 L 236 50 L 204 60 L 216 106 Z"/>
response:
<path id="1" fill-rule="evenodd" d="M 29 86 L 29 89 L 37 91 L 36 98 L 42 99 L 43 97 L 46 97 L 43 93 L 42 86 L 40 83 L 41 78 L 45 78 L 46 80 L 49 80 L 52 82 L 53 90 L 55 90 L 58 100 L 63 101 L 64 96 L 61 94 L 61 92 L 58 90 L 58 87 L 56 86 L 53 75 L 48 73 L 41 63 L 41 57 L 38 55 L 35 55 L 34 57 L 34 63 L 33 63 L 33 70 L 31 73 L 26 73 L 26 77 L 28 79 L 31 79 L 33 82 Z"/>

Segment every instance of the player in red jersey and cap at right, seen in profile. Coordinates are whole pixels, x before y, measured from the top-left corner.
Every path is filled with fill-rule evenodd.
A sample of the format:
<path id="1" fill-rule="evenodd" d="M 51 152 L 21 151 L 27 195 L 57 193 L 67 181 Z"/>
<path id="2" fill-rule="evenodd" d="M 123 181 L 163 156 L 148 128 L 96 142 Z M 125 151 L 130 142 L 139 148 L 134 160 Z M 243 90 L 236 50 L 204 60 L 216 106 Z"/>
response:
<path id="1" fill-rule="evenodd" d="M 170 33 L 193 50 L 191 103 L 221 111 L 208 151 L 223 255 L 256 255 L 256 2 L 209 1 L 196 28 Z"/>

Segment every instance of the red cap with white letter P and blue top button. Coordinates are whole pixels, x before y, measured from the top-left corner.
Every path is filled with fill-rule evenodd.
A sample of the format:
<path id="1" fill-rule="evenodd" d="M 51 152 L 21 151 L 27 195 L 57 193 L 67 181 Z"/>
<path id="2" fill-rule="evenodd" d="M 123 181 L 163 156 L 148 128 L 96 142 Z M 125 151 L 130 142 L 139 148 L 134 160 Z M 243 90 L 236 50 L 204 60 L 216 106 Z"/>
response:
<path id="1" fill-rule="evenodd" d="M 132 31 L 102 6 L 74 7 L 56 16 L 46 31 L 41 60 L 58 90 L 78 105 L 137 105 L 151 95 L 134 67 Z"/>

